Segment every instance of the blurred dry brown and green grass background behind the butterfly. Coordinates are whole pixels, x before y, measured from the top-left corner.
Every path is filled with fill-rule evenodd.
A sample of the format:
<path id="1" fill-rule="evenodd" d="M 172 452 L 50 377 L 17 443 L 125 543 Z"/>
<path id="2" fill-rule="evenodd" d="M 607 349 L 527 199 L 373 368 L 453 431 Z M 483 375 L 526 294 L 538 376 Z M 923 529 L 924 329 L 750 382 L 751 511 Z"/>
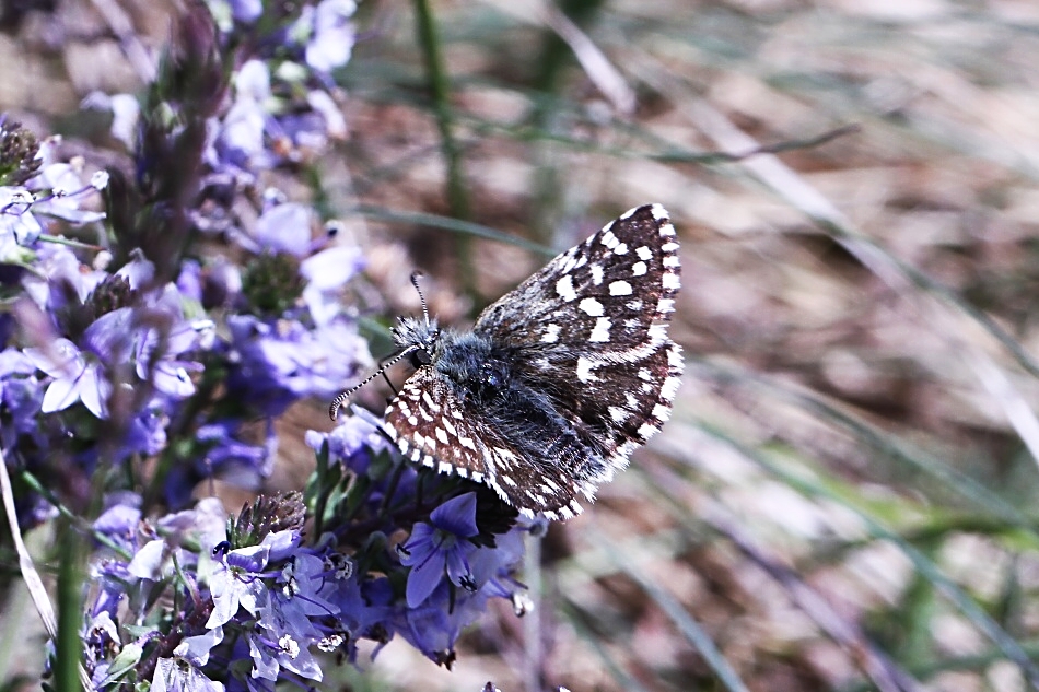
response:
<path id="1" fill-rule="evenodd" d="M 183 7 L 0 7 L 0 112 L 125 159 L 81 104 L 140 93 Z M 532 544 L 532 613 L 503 605 L 451 672 L 393 643 L 325 687 L 1039 689 L 1039 3 L 417 7 L 360 3 L 346 126 L 278 180 L 363 248 L 343 300 L 413 314 L 421 269 L 464 326 L 661 202 L 687 374 L 632 467 Z M 272 489 L 302 486 L 326 407 L 281 422 Z"/>

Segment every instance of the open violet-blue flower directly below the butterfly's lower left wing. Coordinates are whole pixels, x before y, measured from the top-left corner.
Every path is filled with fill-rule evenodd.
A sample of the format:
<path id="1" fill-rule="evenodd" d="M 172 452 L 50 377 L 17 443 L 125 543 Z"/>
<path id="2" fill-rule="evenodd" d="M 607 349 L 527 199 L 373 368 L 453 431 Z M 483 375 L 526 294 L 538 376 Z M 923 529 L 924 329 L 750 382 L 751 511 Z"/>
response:
<path id="1" fill-rule="evenodd" d="M 447 578 L 456 586 L 471 585 L 468 556 L 476 546 L 467 540 L 477 533 L 476 493 L 448 500 L 430 514 L 432 524 L 418 523 L 411 538 L 399 546 L 400 564 L 411 567 L 408 575 L 409 608 L 418 608 L 436 586 Z"/>

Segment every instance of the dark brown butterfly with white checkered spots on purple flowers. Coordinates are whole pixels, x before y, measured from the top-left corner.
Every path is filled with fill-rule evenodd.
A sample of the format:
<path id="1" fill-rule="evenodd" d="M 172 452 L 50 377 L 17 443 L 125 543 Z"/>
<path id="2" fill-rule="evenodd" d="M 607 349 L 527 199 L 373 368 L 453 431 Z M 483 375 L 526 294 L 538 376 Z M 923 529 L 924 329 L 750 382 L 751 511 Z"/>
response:
<path id="1" fill-rule="evenodd" d="M 415 374 L 383 432 L 412 461 L 486 483 L 525 516 L 575 516 L 579 496 L 593 501 L 670 417 L 685 365 L 667 333 L 678 247 L 667 212 L 646 204 L 556 257 L 469 331 L 442 329 L 423 298 L 422 319 L 392 329 L 400 351 L 386 367 L 407 357 Z M 358 387 L 332 402 L 334 420 Z"/>

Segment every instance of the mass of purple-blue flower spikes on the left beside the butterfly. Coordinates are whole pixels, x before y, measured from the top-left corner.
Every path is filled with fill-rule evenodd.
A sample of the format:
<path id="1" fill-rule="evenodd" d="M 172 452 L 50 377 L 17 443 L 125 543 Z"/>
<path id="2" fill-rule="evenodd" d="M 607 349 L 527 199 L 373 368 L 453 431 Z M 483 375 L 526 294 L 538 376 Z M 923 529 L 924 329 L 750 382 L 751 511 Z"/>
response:
<path id="1" fill-rule="evenodd" d="M 354 10 L 196 5 L 140 99 L 85 104 L 110 110 L 125 166 L 0 118 L 0 444 L 23 527 L 102 507 L 96 689 L 273 690 L 395 635 L 450 665 L 488 599 L 524 607 L 513 574 L 540 525 L 402 462 L 363 414 L 306 435 L 303 492 L 231 517 L 211 496 L 261 488 L 287 408 L 373 367 L 341 300 L 362 253 L 277 185 L 346 134 Z"/>

